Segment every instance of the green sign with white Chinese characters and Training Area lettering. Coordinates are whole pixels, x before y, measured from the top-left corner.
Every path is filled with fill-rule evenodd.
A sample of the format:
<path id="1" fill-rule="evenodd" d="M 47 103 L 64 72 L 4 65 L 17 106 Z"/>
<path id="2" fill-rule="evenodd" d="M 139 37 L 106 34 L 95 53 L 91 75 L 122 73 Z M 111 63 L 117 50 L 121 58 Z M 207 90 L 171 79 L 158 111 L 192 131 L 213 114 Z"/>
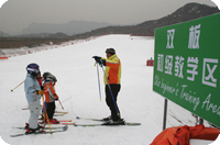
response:
<path id="1" fill-rule="evenodd" d="M 155 30 L 153 90 L 220 127 L 220 13 Z"/>

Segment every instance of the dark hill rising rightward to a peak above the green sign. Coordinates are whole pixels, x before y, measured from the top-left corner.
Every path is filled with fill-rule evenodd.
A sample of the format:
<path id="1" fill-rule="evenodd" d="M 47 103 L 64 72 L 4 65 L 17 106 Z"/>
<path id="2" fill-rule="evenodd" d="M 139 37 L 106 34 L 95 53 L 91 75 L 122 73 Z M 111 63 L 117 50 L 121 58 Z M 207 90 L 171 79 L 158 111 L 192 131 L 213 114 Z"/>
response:
<path id="1" fill-rule="evenodd" d="M 92 35 L 102 35 L 102 34 L 133 34 L 133 35 L 154 35 L 154 30 L 157 27 L 172 25 L 176 23 L 182 23 L 204 16 L 208 16 L 215 13 L 219 13 L 220 10 L 217 7 L 209 7 L 206 4 L 200 4 L 196 2 L 187 3 L 184 7 L 177 9 L 172 14 L 167 16 L 150 20 L 136 25 L 128 26 L 108 26 L 103 29 L 98 29 L 88 33 L 78 34 L 72 37 L 89 37 Z"/>

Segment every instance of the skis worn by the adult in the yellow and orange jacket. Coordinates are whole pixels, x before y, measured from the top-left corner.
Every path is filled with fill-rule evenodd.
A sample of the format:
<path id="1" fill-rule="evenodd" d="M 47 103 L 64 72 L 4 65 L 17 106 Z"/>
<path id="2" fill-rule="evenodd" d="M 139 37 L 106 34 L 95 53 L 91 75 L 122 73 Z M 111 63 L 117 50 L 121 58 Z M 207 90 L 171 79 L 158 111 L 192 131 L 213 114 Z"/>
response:
<path id="1" fill-rule="evenodd" d="M 136 125 L 141 125 L 141 123 L 132 123 L 132 122 L 124 122 L 124 124 L 105 124 L 106 121 L 100 120 L 100 119 L 88 119 L 88 118 L 79 118 L 76 116 L 77 120 L 90 120 L 90 121 L 98 121 L 98 122 L 102 122 L 100 124 L 73 124 L 74 126 L 119 126 L 119 125 L 129 125 L 129 126 L 136 126 Z"/>

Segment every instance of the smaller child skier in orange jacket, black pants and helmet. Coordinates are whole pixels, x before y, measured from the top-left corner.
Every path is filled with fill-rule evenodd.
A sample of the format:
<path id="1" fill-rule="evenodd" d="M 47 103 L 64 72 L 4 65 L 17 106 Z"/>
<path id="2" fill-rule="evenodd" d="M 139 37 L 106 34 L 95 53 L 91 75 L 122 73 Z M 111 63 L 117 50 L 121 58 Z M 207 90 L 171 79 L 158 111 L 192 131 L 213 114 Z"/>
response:
<path id="1" fill-rule="evenodd" d="M 44 96 L 45 96 L 45 102 L 47 104 L 46 112 L 48 115 L 50 123 L 52 124 L 58 124 L 59 122 L 55 119 L 54 112 L 55 112 L 55 101 L 58 100 L 58 96 L 55 92 L 55 83 L 57 81 L 56 77 L 52 74 L 43 75 L 45 79 L 44 83 Z"/>

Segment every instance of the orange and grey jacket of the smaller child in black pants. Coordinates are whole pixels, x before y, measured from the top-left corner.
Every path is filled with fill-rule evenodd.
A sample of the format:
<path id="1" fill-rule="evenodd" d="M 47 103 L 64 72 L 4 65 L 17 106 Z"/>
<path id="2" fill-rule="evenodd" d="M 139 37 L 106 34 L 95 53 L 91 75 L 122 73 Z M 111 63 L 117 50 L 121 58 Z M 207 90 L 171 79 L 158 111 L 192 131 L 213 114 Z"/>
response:
<path id="1" fill-rule="evenodd" d="M 48 102 L 54 102 L 55 99 L 58 99 L 58 96 L 55 92 L 55 82 L 50 81 L 44 83 L 44 96 L 45 96 L 45 101 Z"/>

